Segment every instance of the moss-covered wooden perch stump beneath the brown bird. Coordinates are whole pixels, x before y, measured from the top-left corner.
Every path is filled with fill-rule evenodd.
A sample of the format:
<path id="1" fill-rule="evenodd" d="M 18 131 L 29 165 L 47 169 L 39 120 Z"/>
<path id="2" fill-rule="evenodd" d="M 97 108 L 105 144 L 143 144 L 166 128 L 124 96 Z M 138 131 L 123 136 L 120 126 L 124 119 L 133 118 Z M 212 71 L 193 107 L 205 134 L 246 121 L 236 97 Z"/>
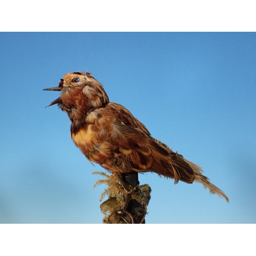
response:
<path id="1" fill-rule="evenodd" d="M 109 199 L 100 205 L 105 215 L 103 223 L 144 224 L 146 208 L 151 198 L 151 187 L 147 184 L 139 185 L 136 172 L 113 175 L 105 175 L 106 180 L 97 182 L 109 186 L 103 193 L 109 195 Z"/>

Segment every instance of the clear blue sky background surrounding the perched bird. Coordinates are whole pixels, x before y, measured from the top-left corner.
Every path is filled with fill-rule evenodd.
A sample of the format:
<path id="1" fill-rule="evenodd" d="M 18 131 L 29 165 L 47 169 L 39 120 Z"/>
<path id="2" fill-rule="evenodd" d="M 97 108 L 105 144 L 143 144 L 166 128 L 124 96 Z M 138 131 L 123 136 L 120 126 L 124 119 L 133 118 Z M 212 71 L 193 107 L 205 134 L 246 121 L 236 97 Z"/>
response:
<path id="1" fill-rule="evenodd" d="M 104 186 L 45 109 L 68 72 L 90 71 L 152 136 L 203 167 L 198 183 L 150 184 L 146 223 L 256 222 L 255 33 L 0 33 L 0 223 L 101 223 Z"/>

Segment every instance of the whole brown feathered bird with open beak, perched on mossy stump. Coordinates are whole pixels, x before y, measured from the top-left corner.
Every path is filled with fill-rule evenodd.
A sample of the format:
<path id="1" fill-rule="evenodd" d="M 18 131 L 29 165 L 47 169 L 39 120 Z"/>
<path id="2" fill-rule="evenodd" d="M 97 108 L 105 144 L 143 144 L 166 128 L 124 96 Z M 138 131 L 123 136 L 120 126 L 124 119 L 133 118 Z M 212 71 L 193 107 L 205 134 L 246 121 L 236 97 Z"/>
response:
<path id="1" fill-rule="evenodd" d="M 124 106 L 110 102 L 102 84 L 91 73 L 68 73 L 60 79 L 60 97 L 51 102 L 67 112 L 71 120 L 71 138 L 88 158 L 111 173 L 154 172 L 174 179 L 174 183 L 199 182 L 210 193 L 227 196 L 209 182 L 200 166 L 173 152 L 153 138 L 145 125 Z"/>

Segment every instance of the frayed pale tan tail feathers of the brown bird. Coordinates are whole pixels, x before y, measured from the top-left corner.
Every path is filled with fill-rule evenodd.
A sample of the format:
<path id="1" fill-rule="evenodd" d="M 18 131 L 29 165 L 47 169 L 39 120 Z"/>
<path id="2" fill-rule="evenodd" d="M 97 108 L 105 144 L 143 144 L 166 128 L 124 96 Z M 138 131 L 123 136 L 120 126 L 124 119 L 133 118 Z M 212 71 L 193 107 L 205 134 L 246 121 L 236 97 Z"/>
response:
<path id="1" fill-rule="evenodd" d="M 202 183 L 204 188 L 208 188 L 210 190 L 211 194 L 217 194 L 220 198 L 225 198 L 227 202 L 229 202 L 228 197 L 225 195 L 225 193 L 220 190 L 217 186 L 215 186 L 214 184 L 209 182 L 209 179 L 204 176 L 203 170 L 200 166 L 184 159 L 189 165 L 190 167 L 194 170 L 194 174 L 195 174 L 195 182 L 198 183 Z"/>

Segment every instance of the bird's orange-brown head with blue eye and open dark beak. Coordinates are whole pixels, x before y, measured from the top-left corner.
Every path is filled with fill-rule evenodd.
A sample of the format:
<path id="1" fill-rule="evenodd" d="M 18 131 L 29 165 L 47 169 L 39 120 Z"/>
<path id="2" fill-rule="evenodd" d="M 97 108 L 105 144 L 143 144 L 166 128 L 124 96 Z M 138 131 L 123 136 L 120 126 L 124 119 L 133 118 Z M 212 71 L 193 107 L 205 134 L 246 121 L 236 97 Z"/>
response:
<path id="1" fill-rule="evenodd" d="M 58 87 L 46 88 L 46 91 L 59 91 L 60 97 L 50 105 L 58 104 L 63 111 L 79 110 L 88 112 L 109 103 L 101 83 L 89 72 L 68 73 L 60 79 Z"/>

